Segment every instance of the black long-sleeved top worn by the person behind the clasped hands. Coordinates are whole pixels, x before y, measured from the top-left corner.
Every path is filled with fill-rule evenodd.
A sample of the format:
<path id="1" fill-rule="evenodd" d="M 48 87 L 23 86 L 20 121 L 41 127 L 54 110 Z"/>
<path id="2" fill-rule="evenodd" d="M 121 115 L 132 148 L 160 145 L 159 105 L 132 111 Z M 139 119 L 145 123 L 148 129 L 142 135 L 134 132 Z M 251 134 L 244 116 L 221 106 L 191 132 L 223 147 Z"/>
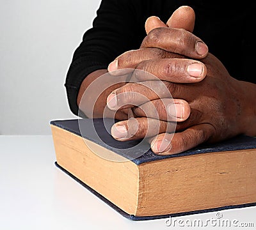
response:
<path id="1" fill-rule="evenodd" d="M 139 49 L 147 35 L 148 17 L 154 15 L 166 22 L 182 5 L 195 10 L 193 33 L 207 44 L 209 52 L 220 59 L 230 75 L 256 83 L 251 1 L 224 6 L 220 0 L 102 0 L 93 26 L 84 33 L 68 69 L 65 87 L 70 110 L 78 114 L 78 91 L 88 74 L 108 68 L 111 61 L 127 50 Z"/>

